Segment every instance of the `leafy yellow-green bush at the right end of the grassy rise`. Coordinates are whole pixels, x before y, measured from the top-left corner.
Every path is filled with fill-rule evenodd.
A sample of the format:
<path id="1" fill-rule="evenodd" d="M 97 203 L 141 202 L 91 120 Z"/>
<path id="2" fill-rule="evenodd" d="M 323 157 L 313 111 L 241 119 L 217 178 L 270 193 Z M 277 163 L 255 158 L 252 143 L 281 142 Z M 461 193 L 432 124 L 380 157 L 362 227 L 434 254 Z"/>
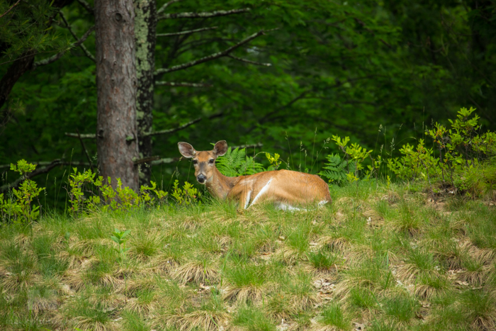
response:
<path id="1" fill-rule="evenodd" d="M 417 146 L 403 145 L 402 157 L 388 159 L 388 168 L 400 179 L 427 181 L 435 187 L 450 187 L 453 193 L 490 193 L 496 184 L 496 133 L 479 134 L 475 108 L 461 108 L 456 120 L 449 120 L 451 129 L 439 123 L 425 135 L 434 140 L 435 147 L 427 147 L 419 139 Z M 437 149 L 437 152 L 435 151 Z"/>

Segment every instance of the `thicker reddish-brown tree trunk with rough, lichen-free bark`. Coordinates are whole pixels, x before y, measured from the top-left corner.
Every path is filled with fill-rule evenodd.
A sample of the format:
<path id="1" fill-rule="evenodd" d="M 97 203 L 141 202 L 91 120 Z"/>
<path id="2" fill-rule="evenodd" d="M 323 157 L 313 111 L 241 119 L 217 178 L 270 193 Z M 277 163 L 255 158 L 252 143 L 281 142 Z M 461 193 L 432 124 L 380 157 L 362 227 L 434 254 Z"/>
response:
<path id="1" fill-rule="evenodd" d="M 135 11 L 133 0 L 95 1 L 96 145 L 103 179 L 137 191 Z"/>

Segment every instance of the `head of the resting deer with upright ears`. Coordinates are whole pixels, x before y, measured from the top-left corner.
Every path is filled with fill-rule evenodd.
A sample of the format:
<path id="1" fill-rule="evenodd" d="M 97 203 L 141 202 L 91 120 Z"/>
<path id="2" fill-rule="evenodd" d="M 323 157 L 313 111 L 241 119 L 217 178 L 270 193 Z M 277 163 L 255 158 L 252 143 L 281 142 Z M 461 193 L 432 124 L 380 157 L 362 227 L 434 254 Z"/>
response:
<path id="1" fill-rule="evenodd" d="M 215 143 L 213 150 L 196 151 L 188 142 L 178 142 L 179 152 L 188 159 L 193 159 L 196 180 L 200 184 L 206 184 L 214 174 L 215 159 L 225 155 L 227 152 L 227 142 L 220 140 Z"/>

